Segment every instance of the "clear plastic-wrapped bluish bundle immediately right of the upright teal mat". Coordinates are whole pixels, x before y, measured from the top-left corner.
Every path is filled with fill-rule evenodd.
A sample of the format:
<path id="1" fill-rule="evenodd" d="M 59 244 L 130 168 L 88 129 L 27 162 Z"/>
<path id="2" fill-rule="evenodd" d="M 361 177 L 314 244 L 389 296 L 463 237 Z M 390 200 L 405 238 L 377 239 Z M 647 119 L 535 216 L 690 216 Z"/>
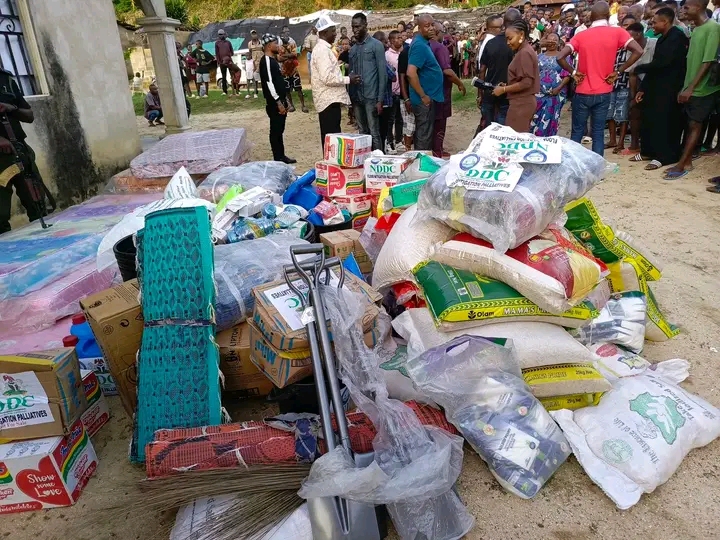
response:
<path id="1" fill-rule="evenodd" d="M 253 287 L 281 279 L 292 264 L 290 246 L 306 244 L 289 235 L 271 235 L 215 247 L 215 322 L 225 330 L 252 316 Z"/>

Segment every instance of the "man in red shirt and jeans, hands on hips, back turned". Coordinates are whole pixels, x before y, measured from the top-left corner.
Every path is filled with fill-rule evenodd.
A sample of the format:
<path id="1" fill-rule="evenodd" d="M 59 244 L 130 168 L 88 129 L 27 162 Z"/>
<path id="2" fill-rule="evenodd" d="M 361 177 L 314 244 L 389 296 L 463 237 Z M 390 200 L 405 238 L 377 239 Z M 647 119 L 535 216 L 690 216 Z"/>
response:
<path id="1" fill-rule="evenodd" d="M 573 36 L 557 56 L 558 64 L 573 74 L 577 88 L 573 98 L 571 139 L 581 142 L 588 118 L 592 149 L 601 156 L 605 151 L 605 121 L 610 107 L 613 83 L 642 56 L 643 49 L 624 28 L 610 26 L 610 6 L 596 2 L 590 11 L 590 28 Z M 630 57 L 615 70 L 615 57 L 628 49 Z M 566 58 L 578 55 L 574 69 Z"/>

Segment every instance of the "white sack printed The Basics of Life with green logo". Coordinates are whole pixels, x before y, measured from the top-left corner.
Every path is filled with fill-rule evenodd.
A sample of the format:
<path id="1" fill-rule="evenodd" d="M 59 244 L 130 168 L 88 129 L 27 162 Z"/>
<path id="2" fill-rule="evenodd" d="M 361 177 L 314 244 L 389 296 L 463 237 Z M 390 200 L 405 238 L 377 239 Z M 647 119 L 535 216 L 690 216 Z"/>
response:
<path id="1" fill-rule="evenodd" d="M 718 409 L 649 371 L 613 383 L 596 407 L 551 414 L 585 472 L 621 510 L 720 435 Z"/>

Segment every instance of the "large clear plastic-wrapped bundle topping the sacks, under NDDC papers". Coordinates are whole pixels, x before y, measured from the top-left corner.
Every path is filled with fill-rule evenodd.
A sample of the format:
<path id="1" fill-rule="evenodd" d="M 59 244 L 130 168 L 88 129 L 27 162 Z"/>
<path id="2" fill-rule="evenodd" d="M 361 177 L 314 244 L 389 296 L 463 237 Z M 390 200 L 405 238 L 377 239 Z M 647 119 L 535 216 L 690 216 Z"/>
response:
<path id="1" fill-rule="evenodd" d="M 463 156 L 475 156 L 477 162 L 480 145 L 492 127 L 480 132 Z M 456 181 L 450 174 L 453 163 L 443 166 L 420 192 L 416 222 L 428 218 L 444 221 L 458 231 L 488 240 L 501 253 L 540 234 L 551 223 L 562 225 L 565 206 L 616 166 L 580 144 L 559 139 L 562 162 L 523 163 L 522 175 L 509 192 L 450 187 Z"/>

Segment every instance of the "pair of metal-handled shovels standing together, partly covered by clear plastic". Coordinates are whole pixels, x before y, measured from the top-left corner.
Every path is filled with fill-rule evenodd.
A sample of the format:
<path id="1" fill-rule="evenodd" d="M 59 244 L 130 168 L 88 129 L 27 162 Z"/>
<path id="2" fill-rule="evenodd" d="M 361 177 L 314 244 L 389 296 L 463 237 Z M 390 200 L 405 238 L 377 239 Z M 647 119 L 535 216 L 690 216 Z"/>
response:
<path id="1" fill-rule="evenodd" d="M 300 262 L 298 261 L 299 255 L 315 255 L 315 257 Z M 340 383 L 335 368 L 335 355 L 330 344 L 327 316 L 319 289 L 321 276 L 324 279 L 324 284 L 330 285 L 331 267 L 338 267 L 340 274 L 338 288 L 342 287 L 345 281 L 345 272 L 339 258 L 325 258 L 322 244 L 292 246 L 290 256 L 293 264 L 283 268 L 285 281 L 300 299 L 301 320 L 305 324 L 310 344 L 325 442 L 328 451 L 334 450 L 338 444 L 332 429 L 330 415 L 330 402 L 332 400 L 332 406 L 336 413 L 339 444 L 347 450 L 350 456 L 353 456 L 343 410 Z M 291 273 L 300 276 L 305 287 L 307 287 L 307 295 L 300 289 L 297 281 L 294 282 L 290 278 Z M 329 397 L 328 382 L 330 384 Z M 372 453 L 353 456 L 353 458 L 359 467 L 367 466 L 373 461 Z M 378 519 L 376 508 L 373 505 L 353 502 L 340 497 L 314 498 L 309 499 L 307 503 L 313 540 L 380 540 L 385 536 L 380 526 L 380 521 L 383 520 Z"/>

